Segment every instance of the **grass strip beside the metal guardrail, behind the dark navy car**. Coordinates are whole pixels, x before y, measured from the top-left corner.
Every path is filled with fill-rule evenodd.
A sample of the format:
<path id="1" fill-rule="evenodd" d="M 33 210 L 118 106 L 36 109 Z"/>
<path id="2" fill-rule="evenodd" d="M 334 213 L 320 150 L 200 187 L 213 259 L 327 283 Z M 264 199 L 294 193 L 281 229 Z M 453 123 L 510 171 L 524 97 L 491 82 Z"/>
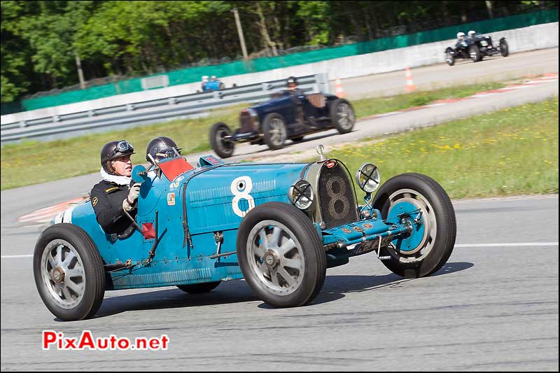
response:
<path id="1" fill-rule="evenodd" d="M 356 117 L 420 106 L 437 99 L 467 97 L 475 92 L 503 87 L 502 83 L 487 83 L 448 87 L 426 92 L 399 94 L 352 101 Z M 237 128 L 239 111 L 244 104 L 213 111 L 207 118 L 174 120 L 155 125 L 139 126 L 103 134 L 90 134 L 57 141 L 22 141 L 1 148 L 1 190 L 44 183 L 99 170 L 99 150 L 108 141 L 127 139 L 136 146 L 133 164 L 145 162 L 145 146 L 155 136 L 170 136 L 183 148 L 183 155 L 210 150 L 209 129 L 215 122 L 225 122 Z"/>

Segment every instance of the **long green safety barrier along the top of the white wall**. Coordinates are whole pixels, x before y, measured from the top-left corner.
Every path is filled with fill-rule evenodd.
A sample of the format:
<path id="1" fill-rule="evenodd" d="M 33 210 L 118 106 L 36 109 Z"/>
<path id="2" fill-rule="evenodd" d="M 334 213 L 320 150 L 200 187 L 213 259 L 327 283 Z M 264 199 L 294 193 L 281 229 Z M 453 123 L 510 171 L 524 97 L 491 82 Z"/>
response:
<path id="1" fill-rule="evenodd" d="M 405 48 L 411 45 L 418 45 L 423 43 L 433 43 L 435 41 L 454 38 L 457 31 L 467 31 L 470 29 L 474 29 L 481 33 L 487 34 L 493 31 L 519 29 L 521 27 L 528 27 L 535 24 L 543 24 L 549 22 L 558 22 L 558 9 L 542 10 L 533 13 L 511 15 L 509 17 L 500 17 L 493 18 L 491 20 L 458 24 L 456 26 L 443 27 L 441 29 L 420 31 L 414 34 L 391 36 L 388 38 L 378 38 L 362 43 L 353 43 L 349 45 L 341 45 L 338 47 L 324 48 L 321 50 L 293 53 L 290 55 L 279 57 L 264 57 L 248 61 L 236 61 L 230 62 L 228 64 L 219 64 L 214 66 L 190 67 L 188 69 L 169 71 L 169 73 L 167 73 L 167 76 L 169 77 L 169 85 L 195 83 L 200 82 L 200 78 L 204 75 L 216 75 L 219 77 L 224 77 L 241 75 L 245 73 L 256 73 L 260 71 L 280 69 L 283 67 L 297 66 L 300 64 L 311 64 L 313 62 L 325 61 L 328 59 L 380 52 L 381 50 Z M 153 76 L 157 75 L 160 74 L 155 74 Z M 22 108 L 23 111 L 29 111 L 37 108 L 46 108 L 50 106 L 72 104 L 79 101 L 99 99 L 102 97 L 113 96 L 115 94 L 140 92 L 141 90 L 141 78 L 121 80 L 116 83 L 98 85 L 96 87 L 86 88 L 84 90 L 63 92 L 52 96 L 38 97 L 34 99 L 23 99 L 19 106 L 10 103 L 11 106 L 8 108 L 8 106 L 5 107 L 6 104 L 2 104 L 2 114 L 8 112 L 13 113 L 15 111 L 11 110 L 14 110 L 15 108 Z"/>

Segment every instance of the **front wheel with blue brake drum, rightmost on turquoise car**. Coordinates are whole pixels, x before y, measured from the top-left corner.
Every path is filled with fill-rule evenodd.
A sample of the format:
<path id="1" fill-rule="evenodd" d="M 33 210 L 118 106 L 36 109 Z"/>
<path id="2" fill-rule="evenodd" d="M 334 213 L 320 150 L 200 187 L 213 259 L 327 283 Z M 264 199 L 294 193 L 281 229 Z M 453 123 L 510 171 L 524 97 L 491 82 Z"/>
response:
<path id="1" fill-rule="evenodd" d="M 381 211 L 384 220 L 400 218 L 400 223 L 414 227 L 388 246 L 391 259 L 383 260 L 388 269 L 403 277 L 422 277 L 447 262 L 455 244 L 455 211 L 435 180 L 412 173 L 395 176 L 381 185 L 373 206 Z M 414 209 L 414 214 L 399 214 L 403 207 Z"/>

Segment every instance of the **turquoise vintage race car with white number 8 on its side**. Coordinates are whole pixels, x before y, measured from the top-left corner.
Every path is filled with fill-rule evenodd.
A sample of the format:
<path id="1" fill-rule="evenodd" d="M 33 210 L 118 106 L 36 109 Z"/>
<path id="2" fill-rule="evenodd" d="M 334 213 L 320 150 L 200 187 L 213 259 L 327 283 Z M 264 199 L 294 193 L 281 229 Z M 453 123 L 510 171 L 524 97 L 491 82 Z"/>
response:
<path id="1" fill-rule="evenodd" d="M 379 186 L 363 164 L 356 183 L 344 163 L 225 164 L 193 168 L 183 157 L 137 166 L 138 213 L 106 234 L 87 200 L 59 214 L 35 246 L 33 270 L 46 307 L 64 321 L 92 317 L 105 290 L 177 286 L 204 293 L 244 278 L 273 307 L 308 304 L 329 267 L 373 253 L 400 276 L 444 265 L 456 237 L 455 213 L 428 176 L 401 174 Z"/>

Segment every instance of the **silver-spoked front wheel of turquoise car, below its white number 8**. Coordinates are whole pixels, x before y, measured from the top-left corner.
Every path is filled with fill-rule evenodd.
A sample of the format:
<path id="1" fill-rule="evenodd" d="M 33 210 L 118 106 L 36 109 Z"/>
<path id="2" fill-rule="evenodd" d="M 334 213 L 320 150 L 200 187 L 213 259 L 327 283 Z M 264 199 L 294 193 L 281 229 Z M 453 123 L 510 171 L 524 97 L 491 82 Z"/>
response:
<path id="1" fill-rule="evenodd" d="M 268 202 L 247 213 L 237 233 L 237 258 L 253 293 L 272 307 L 308 304 L 325 281 L 321 238 L 311 220 L 290 204 Z"/>

